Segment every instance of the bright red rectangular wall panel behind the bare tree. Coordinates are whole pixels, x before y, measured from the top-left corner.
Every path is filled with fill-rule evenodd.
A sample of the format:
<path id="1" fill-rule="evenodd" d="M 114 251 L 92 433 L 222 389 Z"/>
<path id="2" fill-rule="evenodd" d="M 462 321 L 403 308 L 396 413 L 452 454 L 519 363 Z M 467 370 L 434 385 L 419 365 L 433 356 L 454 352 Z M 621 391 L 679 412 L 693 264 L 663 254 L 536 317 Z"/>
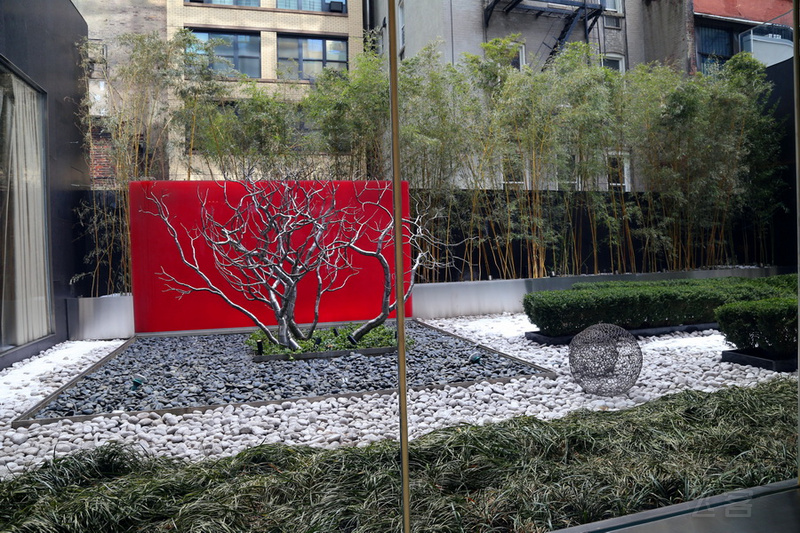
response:
<path id="1" fill-rule="evenodd" d="M 309 189 L 326 187 L 326 182 L 293 182 L 293 187 Z M 227 188 L 226 188 L 227 187 Z M 390 182 L 335 182 L 327 187 L 335 195 L 340 206 L 350 206 L 360 210 L 363 216 L 368 213 L 372 224 L 385 227 L 391 223 L 393 200 Z M 235 182 L 206 181 L 147 181 L 134 182 L 130 186 L 131 205 L 131 254 L 133 262 L 133 300 L 134 318 L 137 333 L 191 331 L 217 328 L 254 326 L 253 322 L 240 311 L 232 308 L 223 299 L 207 292 L 193 292 L 180 295 L 169 290 L 163 279 L 162 270 L 178 280 L 202 286 L 197 273 L 185 266 L 173 237 L 167 231 L 165 222 L 154 215 L 153 198 L 162 199 L 169 211 L 169 220 L 178 229 L 179 242 L 189 250 L 189 234 L 196 232 L 202 223 L 200 198 L 207 198 L 207 205 L 214 206 L 225 216 L 225 200 L 231 200 L 236 193 Z M 408 185 L 403 184 L 403 217 L 408 216 Z M 372 203 L 383 207 L 376 208 Z M 364 211 L 366 210 L 366 211 Z M 355 211 L 354 211 L 355 212 Z M 215 212 L 216 213 L 216 212 Z M 215 218 L 217 218 L 215 216 Z M 223 277 L 214 268 L 213 255 L 202 239 L 195 241 L 197 261 L 203 266 L 214 283 L 223 283 Z M 410 257 L 410 247 L 403 247 L 404 256 Z M 393 247 L 385 247 L 384 257 L 388 259 L 394 272 Z M 323 296 L 320 306 L 320 322 L 363 321 L 378 315 L 383 290 L 383 270 L 375 258 L 353 256 L 351 277 L 336 292 Z M 409 277 L 406 275 L 406 283 Z M 309 322 L 313 318 L 313 293 L 315 285 L 306 282 L 299 289 L 296 317 L 298 322 Z M 265 305 L 247 302 L 234 291 L 232 295 L 238 303 L 256 313 L 260 320 L 275 324 L 273 312 Z M 406 314 L 411 315 L 411 302 L 406 304 Z"/>

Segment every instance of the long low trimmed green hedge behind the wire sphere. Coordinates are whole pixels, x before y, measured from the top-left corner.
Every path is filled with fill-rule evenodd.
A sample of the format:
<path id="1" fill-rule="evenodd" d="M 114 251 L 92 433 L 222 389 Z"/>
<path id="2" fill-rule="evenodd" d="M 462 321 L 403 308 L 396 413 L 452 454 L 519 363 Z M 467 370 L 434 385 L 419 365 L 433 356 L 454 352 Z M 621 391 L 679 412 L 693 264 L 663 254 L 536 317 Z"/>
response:
<path id="1" fill-rule="evenodd" d="M 554 337 L 574 335 L 600 322 L 625 329 L 701 324 L 714 322 L 714 309 L 721 305 L 786 296 L 791 278 L 797 282 L 796 275 L 775 278 L 787 279 L 576 283 L 571 290 L 526 294 L 523 307 L 543 335 Z"/>

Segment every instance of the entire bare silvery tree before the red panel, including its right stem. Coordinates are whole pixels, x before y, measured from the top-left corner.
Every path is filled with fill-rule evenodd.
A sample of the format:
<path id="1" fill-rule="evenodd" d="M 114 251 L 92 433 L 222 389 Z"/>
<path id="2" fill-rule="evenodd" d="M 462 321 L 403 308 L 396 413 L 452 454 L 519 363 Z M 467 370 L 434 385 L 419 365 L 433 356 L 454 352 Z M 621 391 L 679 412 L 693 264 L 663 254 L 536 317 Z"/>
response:
<path id="1" fill-rule="evenodd" d="M 181 262 L 197 275 L 197 281 L 191 282 L 162 268 L 160 275 L 169 290 L 180 296 L 216 294 L 249 317 L 271 342 L 292 350 L 299 348 L 298 339 L 313 335 L 322 298 L 357 274 L 357 255 L 378 262 L 383 287 L 376 295 L 381 298 L 379 314 L 361 325 L 351 341 L 357 342 L 383 324 L 397 308 L 392 268 L 386 257 L 394 245 L 394 219 L 391 207 L 385 205 L 391 205 L 386 201 L 391 188 L 385 183 L 367 182 L 367 188 L 346 204 L 337 199 L 332 182 L 314 182 L 309 187 L 291 181 L 224 181 L 217 185 L 223 189 L 222 205 L 215 207 L 208 192 L 200 194 L 200 222 L 194 228 L 177 225 L 167 199 L 148 193 L 153 205 L 149 213 L 164 222 Z M 377 192 L 377 197 L 367 192 Z M 417 219 L 405 222 L 404 244 L 420 250 L 419 244 L 427 238 L 425 226 Z M 211 252 L 213 267 L 201 261 L 198 252 L 202 248 Z M 404 301 L 418 268 L 431 266 L 430 257 L 415 253 L 405 273 L 410 280 Z M 313 319 L 304 324 L 305 331 L 295 317 L 301 283 L 304 298 L 313 291 Z M 234 297 L 236 294 L 239 296 Z M 264 306 L 275 317 L 277 337 L 263 317 Z"/>

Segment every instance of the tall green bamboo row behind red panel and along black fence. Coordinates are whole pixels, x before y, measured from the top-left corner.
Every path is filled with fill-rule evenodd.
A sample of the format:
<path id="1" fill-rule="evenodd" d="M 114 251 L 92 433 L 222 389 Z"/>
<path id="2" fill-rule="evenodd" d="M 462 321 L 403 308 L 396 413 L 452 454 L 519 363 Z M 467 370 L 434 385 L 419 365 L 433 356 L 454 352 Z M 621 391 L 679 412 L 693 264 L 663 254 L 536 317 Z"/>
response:
<path id="1" fill-rule="evenodd" d="M 185 56 L 199 53 L 187 64 L 211 55 L 179 37 Z M 517 39 L 456 64 L 433 43 L 401 64 L 402 177 L 412 210 L 431 215 L 428 251 L 451 265 L 423 281 L 772 262 L 771 222 L 786 208 L 761 63 L 620 73 L 576 43 L 543 70 L 516 69 Z M 367 46 L 349 67 L 305 92 L 232 89 L 195 68 L 158 108 L 171 133 L 157 146 L 192 179 L 386 179 L 385 61 Z"/>

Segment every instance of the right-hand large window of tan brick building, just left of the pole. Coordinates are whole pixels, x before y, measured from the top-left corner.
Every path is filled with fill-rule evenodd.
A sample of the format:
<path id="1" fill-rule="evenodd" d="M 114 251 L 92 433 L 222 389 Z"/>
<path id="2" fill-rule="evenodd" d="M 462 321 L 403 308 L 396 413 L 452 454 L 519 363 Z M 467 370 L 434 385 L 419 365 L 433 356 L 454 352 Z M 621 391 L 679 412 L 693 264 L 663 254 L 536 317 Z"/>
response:
<path id="1" fill-rule="evenodd" d="M 313 80 L 322 69 L 347 70 L 347 41 L 278 36 L 278 77 Z"/>

